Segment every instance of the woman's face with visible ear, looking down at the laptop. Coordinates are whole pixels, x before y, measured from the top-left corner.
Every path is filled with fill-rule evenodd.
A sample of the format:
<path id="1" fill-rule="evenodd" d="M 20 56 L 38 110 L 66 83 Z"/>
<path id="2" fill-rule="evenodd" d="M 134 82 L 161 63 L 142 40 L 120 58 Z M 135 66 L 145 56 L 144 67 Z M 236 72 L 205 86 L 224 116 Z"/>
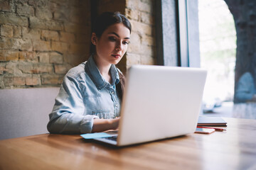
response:
<path id="1" fill-rule="evenodd" d="M 96 45 L 97 64 L 117 64 L 127 51 L 129 36 L 129 29 L 123 23 L 109 26 L 100 38 L 92 33 L 92 43 Z"/>

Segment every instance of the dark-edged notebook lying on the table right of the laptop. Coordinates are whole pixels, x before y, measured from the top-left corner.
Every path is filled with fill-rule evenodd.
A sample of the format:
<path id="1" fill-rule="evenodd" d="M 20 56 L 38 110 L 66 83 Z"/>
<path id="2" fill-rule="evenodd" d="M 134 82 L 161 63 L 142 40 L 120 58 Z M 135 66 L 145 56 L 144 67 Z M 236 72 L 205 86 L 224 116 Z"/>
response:
<path id="1" fill-rule="evenodd" d="M 227 126 L 227 122 L 221 117 L 199 116 L 198 126 Z"/>

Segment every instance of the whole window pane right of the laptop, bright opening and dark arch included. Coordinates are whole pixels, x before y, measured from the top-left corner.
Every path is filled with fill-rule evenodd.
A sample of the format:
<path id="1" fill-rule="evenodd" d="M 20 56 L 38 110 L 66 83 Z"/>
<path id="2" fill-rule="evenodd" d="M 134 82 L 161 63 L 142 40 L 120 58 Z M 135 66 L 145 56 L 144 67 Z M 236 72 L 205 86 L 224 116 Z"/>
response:
<path id="1" fill-rule="evenodd" d="M 256 119 L 256 2 L 227 2 L 198 0 L 201 67 L 208 70 L 202 114 Z"/>

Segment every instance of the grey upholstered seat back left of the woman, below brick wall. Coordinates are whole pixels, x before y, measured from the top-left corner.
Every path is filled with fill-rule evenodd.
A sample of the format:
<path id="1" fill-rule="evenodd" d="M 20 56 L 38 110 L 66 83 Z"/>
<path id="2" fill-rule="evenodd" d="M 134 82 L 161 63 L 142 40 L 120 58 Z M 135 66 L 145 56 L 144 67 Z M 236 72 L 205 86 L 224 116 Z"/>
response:
<path id="1" fill-rule="evenodd" d="M 1 89 L 0 140 L 48 132 L 48 114 L 59 88 Z"/>

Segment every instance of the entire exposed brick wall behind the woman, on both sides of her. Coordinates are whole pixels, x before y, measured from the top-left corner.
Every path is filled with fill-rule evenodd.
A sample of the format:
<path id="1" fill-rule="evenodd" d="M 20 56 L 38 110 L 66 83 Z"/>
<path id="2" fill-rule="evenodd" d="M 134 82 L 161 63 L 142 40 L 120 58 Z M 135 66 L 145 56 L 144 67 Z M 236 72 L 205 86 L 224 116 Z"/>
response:
<path id="1" fill-rule="evenodd" d="M 117 67 L 156 64 L 154 0 L 101 0 L 132 23 L 127 55 Z M 90 54 L 90 0 L 0 0 L 0 89 L 60 86 Z"/>

